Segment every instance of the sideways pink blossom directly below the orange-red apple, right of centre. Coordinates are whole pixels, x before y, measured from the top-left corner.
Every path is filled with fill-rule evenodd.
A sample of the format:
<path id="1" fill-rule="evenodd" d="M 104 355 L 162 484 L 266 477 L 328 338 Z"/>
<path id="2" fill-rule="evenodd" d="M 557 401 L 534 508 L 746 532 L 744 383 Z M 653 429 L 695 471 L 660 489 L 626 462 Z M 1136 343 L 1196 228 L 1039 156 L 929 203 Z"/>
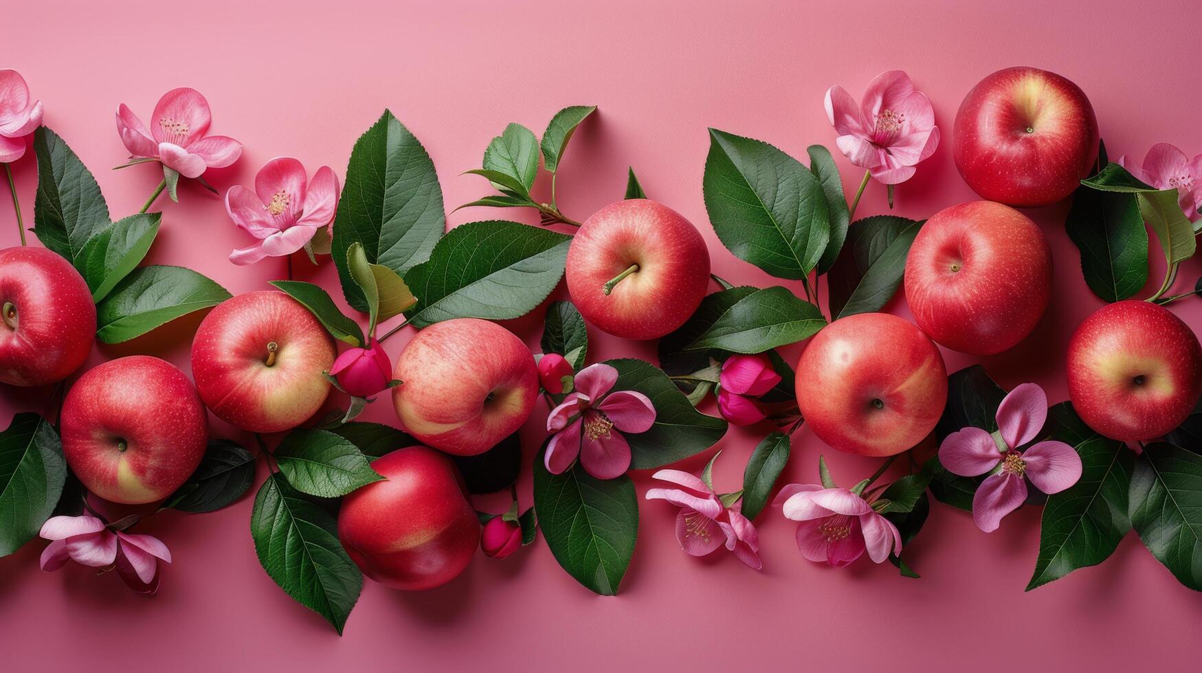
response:
<path id="1" fill-rule="evenodd" d="M 816 562 L 844 567 L 868 552 L 879 564 L 902 553 L 902 534 L 863 498 L 845 488 L 787 484 L 772 502 L 797 524 L 797 548 Z"/>

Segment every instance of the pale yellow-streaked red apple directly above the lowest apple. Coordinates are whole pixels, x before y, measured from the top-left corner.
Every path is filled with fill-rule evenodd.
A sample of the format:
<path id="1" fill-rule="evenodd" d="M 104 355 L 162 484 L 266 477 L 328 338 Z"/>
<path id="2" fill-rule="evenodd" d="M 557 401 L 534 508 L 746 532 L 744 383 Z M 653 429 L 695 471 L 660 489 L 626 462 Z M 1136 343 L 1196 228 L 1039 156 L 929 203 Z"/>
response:
<path id="1" fill-rule="evenodd" d="M 417 333 L 397 358 L 392 389 L 405 430 L 456 455 L 475 455 L 517 431 L 538 397 L 534 356 L 512 332 L 460 317 Z"/>

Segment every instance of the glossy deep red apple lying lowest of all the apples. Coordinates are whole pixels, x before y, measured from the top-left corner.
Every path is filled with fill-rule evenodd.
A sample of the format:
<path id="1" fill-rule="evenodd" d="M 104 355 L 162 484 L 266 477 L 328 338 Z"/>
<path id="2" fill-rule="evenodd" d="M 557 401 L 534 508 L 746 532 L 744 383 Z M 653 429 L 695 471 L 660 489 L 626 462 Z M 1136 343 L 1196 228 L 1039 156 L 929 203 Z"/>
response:
<path id="1" fill-rule="evenodd" d="M 338 538 L 363 573 L 394 589 L 433 589 L 454 579 L 480 544 L 480 520 L 458 469 L 424 446 L 371 464 L 387 481 L 343 499 Z"/>

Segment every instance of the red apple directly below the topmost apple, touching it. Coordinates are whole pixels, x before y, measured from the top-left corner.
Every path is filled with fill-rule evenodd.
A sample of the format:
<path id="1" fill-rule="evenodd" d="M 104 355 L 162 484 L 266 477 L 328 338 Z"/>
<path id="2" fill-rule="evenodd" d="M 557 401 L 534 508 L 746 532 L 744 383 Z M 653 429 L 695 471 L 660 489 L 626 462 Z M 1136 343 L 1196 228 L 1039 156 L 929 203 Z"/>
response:
<path id="1" fill-rule="evenodd" d="M 1000 353 L 1030 334 L 1047 309 L 1052 249 L 1039 225 L 1008 206 L 953 206 L 927 220 L 910 246 L 905 296 L 935 343 Z"/>

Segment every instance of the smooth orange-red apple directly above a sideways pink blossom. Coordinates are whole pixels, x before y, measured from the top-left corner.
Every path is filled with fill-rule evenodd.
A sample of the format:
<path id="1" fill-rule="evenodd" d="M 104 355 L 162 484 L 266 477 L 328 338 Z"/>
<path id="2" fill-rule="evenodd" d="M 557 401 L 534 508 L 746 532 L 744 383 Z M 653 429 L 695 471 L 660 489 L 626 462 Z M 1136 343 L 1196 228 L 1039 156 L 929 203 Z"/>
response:
<path id="1" fill-rule="evenodd" d="M 894 315 L 839 318 L 814 335 L 797 362 L 805 424 L 847 453 L 902 453 L 935 428 L 946 404 L 939 349 Z"/>

